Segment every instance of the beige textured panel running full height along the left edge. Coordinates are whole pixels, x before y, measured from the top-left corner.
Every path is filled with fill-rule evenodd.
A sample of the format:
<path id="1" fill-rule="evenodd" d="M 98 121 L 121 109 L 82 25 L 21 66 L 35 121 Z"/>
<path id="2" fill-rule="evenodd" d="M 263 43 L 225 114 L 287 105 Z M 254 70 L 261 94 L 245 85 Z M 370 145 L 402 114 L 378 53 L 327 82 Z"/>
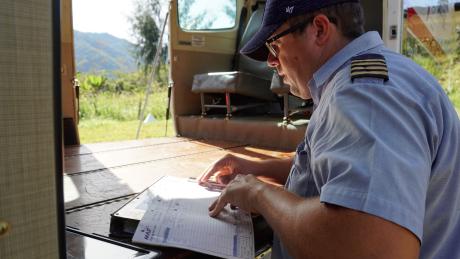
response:
<path id="1" fill-rule="evenodd" d="M 64 252 L 57 209 L 62 184 L 56 182 L 62 173 L 56 6 L 0 1 L 0 221 L 8 226 L 0 258 L 58 258 Z"/>

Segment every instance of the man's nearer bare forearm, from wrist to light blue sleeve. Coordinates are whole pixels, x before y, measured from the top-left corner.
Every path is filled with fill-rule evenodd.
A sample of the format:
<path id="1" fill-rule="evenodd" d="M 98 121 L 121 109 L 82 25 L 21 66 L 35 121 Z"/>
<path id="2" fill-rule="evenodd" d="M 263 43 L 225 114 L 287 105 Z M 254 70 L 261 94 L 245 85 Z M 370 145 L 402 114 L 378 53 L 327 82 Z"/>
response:
<path id="1" fill-rule="evenodd" d="M 283 188 L 256 186 L 255 210 L 294 258 L 417 258 L 418 239 L 370 214 L 305 199 Z"/>

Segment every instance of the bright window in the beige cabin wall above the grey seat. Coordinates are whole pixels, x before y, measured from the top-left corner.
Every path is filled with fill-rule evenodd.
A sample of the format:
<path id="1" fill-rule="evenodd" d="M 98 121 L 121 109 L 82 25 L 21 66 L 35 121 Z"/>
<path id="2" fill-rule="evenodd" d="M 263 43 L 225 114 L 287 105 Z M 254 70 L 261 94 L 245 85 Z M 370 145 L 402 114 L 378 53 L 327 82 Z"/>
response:
<path id="1" fill-rule="evenodd" d="M 235 27 L 236 0 L 179 0 L 183 30 L 222 30 Z"/>

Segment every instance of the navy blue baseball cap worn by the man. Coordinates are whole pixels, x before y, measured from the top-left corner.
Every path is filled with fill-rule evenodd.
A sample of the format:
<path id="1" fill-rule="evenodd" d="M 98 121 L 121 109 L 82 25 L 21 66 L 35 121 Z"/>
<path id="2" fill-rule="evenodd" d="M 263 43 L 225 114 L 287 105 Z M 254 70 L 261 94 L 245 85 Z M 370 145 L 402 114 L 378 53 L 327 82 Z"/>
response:
<path id="1" fill-rule="evenodd" d="M 266 61 L 268 49 L 265 42 L 289 18 L 346 2 L 359 0 L 267 0 L 259 31 L 243 46 L 240 53 L 255 60 Z"/>

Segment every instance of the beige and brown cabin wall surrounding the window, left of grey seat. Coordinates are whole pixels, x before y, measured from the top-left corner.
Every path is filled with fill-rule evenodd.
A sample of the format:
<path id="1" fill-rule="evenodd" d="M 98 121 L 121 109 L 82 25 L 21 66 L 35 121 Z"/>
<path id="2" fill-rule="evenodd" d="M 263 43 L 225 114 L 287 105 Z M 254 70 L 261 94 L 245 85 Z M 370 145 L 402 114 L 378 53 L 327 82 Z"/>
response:
<path id="1" fill-rule="evenodd" d="M 200 96 L 192 93 L 193 76 L 200 73 L 231 71 L 235 54 L 237 24 L 244 0 L 236 1 L 235 26 L 225 30 L 187 31 L 179 25 L 178 1 L 172 1 L 169 21 L 172 113 L 175 118 L 201 113 Z M 179 132 L 178 120 L 175 119 Z"/>

